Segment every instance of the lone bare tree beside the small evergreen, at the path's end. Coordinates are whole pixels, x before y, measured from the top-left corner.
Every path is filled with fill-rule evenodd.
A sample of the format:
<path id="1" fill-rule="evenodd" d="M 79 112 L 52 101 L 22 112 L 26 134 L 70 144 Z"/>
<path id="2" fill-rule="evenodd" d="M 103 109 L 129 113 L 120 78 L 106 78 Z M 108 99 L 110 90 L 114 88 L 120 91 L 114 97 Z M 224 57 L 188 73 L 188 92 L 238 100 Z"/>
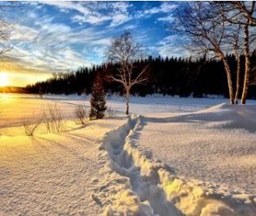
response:
<path id="1" fill-rule="evenodd" d="M 135 73 L 135 61 L 146 57 L 146 50 L 141 43 L 135 43 L 131 32 L 126 30 L 121 36 L 116 36 L 106 50 L 108 62 L 117 65 L 118 73 L 110 75 L 110 79 L 121 83 L 126 93 L 126 112 L 129 114 L 129 97 L 131 88 L 148 80 L 148 65 L 139 73 Z"/>

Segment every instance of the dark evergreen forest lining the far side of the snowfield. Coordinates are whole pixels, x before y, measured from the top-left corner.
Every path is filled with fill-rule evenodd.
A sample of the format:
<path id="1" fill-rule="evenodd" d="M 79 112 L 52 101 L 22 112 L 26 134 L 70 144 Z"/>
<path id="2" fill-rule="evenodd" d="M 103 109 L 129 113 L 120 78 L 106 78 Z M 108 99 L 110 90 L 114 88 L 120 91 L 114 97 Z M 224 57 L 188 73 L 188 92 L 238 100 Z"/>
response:
<path id="1" fill-rule="evenodd" d="M 233 73 L 235 83 L 236 61 L 234 56 L 226 56 Z M 252 63 L 256 63 L 256 50 L 252 56 Z M 241 56 L 241 66 L 244 65 Z M 228 97 L 226 72 L 223 63 L 217 59 L 200 57 L 196 60 L 182 57 L 152 57 L 135 62 L 135 70 L 148 65 L 148 82 L 132 88 L 133 95 L 180 95 L 181 97 L 206 95 L 223 95 Z M 92 68 L 79 68 L 69 73 L 54 74 L 46 82 L 36 82 L 26 87 L 30 94 L 90 94 L 96 74 L 102 75 L 106 93 L 123 95 L 124 89 L 119 83 L 109 82 L 108 75 L 115 73 L 117 65 L 102 64 Z M 244 69 L 241 68 L 241 77 Z M 252 77 L 253 78 L 253 77 Z M 243 79 L 241 79 L 243 81 Z M 240 84 L 242 88 L 243 83 Z M 241 92 L 241 90 L 240 90 Z M 247 98 L 256 99 L 256 85 L 249 86 Z"/>

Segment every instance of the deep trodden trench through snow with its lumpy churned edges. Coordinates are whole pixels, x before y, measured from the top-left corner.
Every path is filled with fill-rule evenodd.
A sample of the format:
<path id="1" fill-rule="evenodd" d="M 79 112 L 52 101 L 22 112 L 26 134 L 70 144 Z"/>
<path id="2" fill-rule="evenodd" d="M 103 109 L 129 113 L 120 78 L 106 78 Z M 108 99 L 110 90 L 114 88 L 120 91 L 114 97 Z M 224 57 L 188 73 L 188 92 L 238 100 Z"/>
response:
<path id="1" fill-rule="evenodd" d="M 102 198 L 104 215 L 255 216 L 252 195 L 207 190 L 143 154 L 136 145 L 141 127 L 140 116 L 130 117 L 100 142 L 105 183 L 95 193 Z"/>

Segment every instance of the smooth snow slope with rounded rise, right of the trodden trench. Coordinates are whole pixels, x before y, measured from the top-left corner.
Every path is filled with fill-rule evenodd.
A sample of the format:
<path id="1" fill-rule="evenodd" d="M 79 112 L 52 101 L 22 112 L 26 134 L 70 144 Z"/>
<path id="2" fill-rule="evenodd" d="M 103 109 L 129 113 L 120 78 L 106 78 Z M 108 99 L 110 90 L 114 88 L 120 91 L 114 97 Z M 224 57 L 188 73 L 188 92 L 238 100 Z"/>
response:
<path id="1" fill-rule="evenodd" d="M 184 178 L 255 195 L 255 110 L 220 104 L 187 115 L 147 115 L 140 145 Z"/>

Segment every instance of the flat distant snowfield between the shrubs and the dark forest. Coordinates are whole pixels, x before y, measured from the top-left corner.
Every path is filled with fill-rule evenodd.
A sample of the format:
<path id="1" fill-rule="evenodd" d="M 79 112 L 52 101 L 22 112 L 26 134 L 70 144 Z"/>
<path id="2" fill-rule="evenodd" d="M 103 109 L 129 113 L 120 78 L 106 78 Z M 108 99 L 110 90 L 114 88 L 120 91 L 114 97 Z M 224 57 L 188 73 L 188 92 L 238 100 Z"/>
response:
<path id="1" fill-rule="evenodd" d="M 77 104 L 84 104 L 89 108 L 89 95 L 21 95 L 0 94 L 0 108 L 2 118 L 10 126 L 27 114 L 40 114 L 43 105 L 58 103 L 66 117 L 72 117 Z M 125 109 L 124 97 L 107 96 L 108 108 L 114 112 L 123 113 Z M 131 96 L 130 112 L 136 114 L 167 113 L 167 112 L 193 112 L 202 108 L 227 102 L 227 99 L 180 98 L 172 96 L 152 95 L 147 97 Z M 256 103 L 248 101 L 248 103 Z"/>

